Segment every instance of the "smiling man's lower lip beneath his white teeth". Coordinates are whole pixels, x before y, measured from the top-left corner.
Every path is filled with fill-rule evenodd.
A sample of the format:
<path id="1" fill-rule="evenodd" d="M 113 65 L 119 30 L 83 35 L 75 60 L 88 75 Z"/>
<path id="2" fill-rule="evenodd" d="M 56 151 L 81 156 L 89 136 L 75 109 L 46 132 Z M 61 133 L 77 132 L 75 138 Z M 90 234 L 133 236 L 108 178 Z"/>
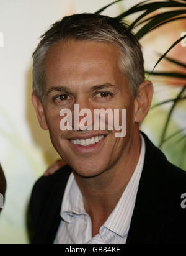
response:
<path id="1" fill-rule="evenodd" d="M 104 135 L 104 134 L 101 134 L 101 135 Z M 92 135 L 91 135 L 91 137 L 92 137 Z M 96 153 L 96 152 L 99 152 L 102 149 L 102 147 L 105 144 L 105 140 L 107 139 L 107 137 L 108 136 L 104 137 L 102 140 L 100 140 L 99 142 L 97 142 L 95 144 L 91 144 L 91 145 L 87 145 L 87 146 L 82 146 L 82 145 L 78 145 L 78 144 L 75 145 L 70 140 L 68 140 L 68 143 L 69 143 L 70 147 L 73 150 L 76 150 L 77 153 L 80 153 L 80 154 Z M 89 139 L 89 138 L 90 138 L 90 136 L 87 137 L 86 139 Z M 82 137 L 81 137 L 81 139 L 82 139 Z"/>

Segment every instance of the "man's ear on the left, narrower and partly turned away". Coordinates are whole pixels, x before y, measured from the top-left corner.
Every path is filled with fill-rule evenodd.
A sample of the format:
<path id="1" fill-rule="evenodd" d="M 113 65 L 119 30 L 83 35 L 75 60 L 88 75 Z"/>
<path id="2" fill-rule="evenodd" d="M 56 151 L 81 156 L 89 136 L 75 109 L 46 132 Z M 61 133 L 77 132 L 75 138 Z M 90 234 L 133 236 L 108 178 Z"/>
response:
<path id="1" fill-rule="evenodd" d="M 45 117 L 45 111 L 42 104 L 42 101 L 35 93 L 32 93 L 32 104 L 35 108 L 35 112 L 37 114 L 38 121 L 43 130 L 48 130 L 48 125 Z"/>

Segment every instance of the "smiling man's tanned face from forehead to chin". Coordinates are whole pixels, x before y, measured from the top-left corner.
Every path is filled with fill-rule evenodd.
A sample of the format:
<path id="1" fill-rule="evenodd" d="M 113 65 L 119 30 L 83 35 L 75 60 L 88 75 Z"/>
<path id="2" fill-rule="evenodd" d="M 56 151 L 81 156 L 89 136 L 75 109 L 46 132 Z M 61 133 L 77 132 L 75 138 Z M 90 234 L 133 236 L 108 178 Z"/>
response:
<path id="1" fill-rule="evenodd" d="M 46 58 L 47 85 L 43 103 L 51 140 L 61 158 L 81 176 L 91 177 L 109 170 L 127 155 L 135 130 L 135 101 L 128 79 L 118 68 L 119 50 L 105 42 L 74 41 L 55 43 Z M 62 131 L 61 109 L 127 109 L 127 135 L 116 138 L 115 130 Z M 114 111 L 113 111 L 114 112 Z M 74 118 L 74 116 L 73 116 Z M 121 116 L 120 116 L 121 118 Z M 82 117 L 79 118 L 81 121 Z M 104 135 L 91 145 L 71 140 Z M 95 138 L 96 140 L 96 138 Z"/>

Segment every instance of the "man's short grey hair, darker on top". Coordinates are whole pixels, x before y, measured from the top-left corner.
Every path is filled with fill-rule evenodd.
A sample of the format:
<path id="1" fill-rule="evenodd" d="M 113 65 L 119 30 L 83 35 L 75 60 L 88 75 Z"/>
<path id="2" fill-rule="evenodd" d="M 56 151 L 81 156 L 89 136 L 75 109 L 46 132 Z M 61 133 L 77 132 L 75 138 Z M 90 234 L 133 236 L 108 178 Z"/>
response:
<path id="1" fill-rule="evenodd" d="M 66 39 L 110 42 L 120 48 L 119 68 L 128 77 L 130 91 L 135 98 L 136 90 L 144 81 L 144 60 L 141 46 L 128 25 L 123 21 L 96 14 L 74 14 L 51 25 L 42 35 L 33 53 L 33 91 L 43 99 L 45 84 L 45 58 L 53 43 Z"/>

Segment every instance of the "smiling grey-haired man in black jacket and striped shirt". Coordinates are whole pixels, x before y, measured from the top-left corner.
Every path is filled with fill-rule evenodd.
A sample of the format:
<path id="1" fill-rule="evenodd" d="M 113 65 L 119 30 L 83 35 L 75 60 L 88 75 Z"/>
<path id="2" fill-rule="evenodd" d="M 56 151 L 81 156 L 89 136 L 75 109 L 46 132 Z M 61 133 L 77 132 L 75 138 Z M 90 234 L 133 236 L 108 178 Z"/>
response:
<path id="1" fill-rule="evenodd" d="M 186 241 L 186 173 L 139 132 L 152 96 L 138 40 L 118 19 L 77 14 L 42 36 L 33 53 L 32 103 L 67 165 L 33 188 L 33 243 Z M 91 124 L 74 106 L 91 111 Z M 105 129 L 96 109 L 110 111 Z M 109 117 L 123 124 L 123 109 L 126 134 L 118 136 Z"/>

